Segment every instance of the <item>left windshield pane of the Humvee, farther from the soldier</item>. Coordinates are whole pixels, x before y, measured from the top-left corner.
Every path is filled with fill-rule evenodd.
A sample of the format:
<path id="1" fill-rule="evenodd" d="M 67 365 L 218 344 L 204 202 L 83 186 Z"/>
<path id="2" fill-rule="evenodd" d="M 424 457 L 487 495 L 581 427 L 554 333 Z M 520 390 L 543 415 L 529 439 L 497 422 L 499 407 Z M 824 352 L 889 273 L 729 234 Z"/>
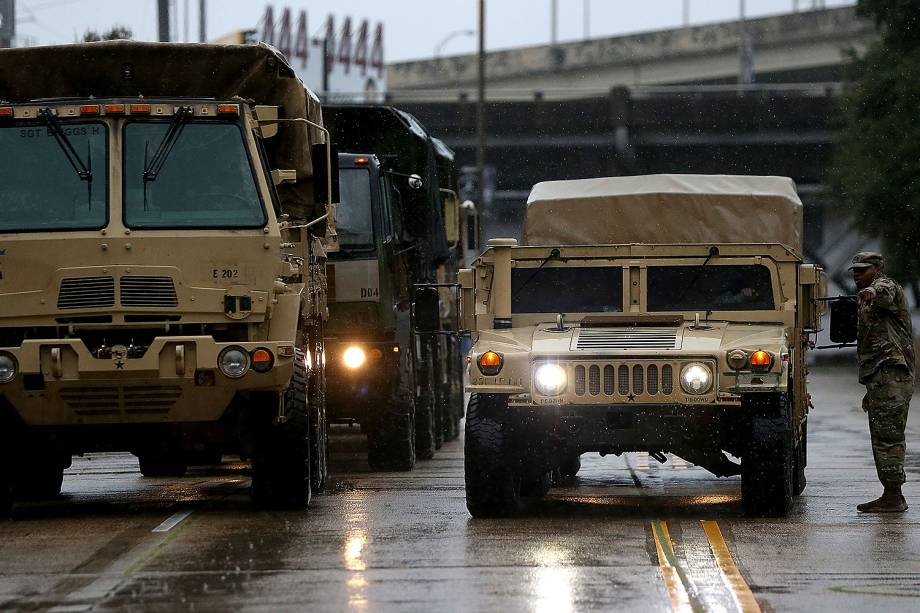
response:
<path id="1" fill-rule="evenodd" d="M 619 313 L 623 269 L 549 267 L 511 269 L 513 313 Z"/>

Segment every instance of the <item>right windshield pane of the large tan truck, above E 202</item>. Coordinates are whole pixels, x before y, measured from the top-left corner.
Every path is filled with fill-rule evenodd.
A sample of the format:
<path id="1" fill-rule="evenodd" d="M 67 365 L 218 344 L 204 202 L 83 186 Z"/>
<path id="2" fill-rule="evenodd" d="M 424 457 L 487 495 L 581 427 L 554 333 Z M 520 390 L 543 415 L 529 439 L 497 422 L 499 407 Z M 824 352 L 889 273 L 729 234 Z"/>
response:
<path id="1" fill-rule="evenodd" d="M 265 224 L 239 127 L 189 123 L 155 178 L 145 169 L 169 123 L 125 126 L 125 225 L 132 228 L 255 228 Z"/>

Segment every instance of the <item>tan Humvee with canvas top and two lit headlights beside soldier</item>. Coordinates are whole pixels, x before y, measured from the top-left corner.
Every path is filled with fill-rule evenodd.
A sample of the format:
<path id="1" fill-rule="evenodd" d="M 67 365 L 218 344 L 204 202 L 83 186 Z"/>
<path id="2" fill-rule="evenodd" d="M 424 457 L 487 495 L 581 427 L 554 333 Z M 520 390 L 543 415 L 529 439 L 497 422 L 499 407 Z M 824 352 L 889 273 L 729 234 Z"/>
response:
<path id="1" fill-rule="evenodd" d="M 826 285 L 802 216 L 782 177 L 537 184 L 524 243 L 493 239 L 461 273 L 470 513 L 515 513 L 585 452 L 642 451 L 740 473 L 747 513 L 786 514 Z"/>

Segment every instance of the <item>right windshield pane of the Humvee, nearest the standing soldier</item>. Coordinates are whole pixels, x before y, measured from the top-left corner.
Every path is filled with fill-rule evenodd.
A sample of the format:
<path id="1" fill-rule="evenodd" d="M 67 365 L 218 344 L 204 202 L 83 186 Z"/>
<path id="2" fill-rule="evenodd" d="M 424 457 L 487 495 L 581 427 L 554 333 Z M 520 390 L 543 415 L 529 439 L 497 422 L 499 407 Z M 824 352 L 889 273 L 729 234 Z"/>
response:
<path id="1" fill-rule="evenodd" d="M 652 266 L 649 311 L 770 311 L 773 283 L 766 266 Z"/>

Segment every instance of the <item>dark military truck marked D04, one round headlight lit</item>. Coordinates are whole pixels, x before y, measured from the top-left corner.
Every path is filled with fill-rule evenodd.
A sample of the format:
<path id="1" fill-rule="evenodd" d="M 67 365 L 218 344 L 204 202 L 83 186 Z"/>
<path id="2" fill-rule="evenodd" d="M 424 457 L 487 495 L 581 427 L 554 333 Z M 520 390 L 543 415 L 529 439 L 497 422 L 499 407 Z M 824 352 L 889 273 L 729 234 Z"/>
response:
<path id="1" fill-rule="evenodd" d="M 410 470 L 458 436 L 463 415 L 457 313 L 437 313 L 437 330 L 424 335 L 413 317 L 420 293 L 456 284 L 453 152 L 392 107 L 326 106 L 324 115 L 336 146 L 353 152 L 339 158 L 341 249 L 329 266 L 329 414 L 361 424 L 372 468 Z"/>

